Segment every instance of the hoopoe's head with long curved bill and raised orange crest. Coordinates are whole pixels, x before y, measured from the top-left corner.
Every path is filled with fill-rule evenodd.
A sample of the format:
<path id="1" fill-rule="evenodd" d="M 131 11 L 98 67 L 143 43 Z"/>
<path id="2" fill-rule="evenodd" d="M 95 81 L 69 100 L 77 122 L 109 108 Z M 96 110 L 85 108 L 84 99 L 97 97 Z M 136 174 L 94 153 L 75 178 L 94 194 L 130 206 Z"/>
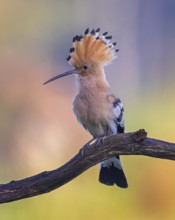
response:
<path id="1" fill-rule="evenodd" d="M 119 51 L 114 49 L 117 43 L 111 43 L 112 36 L 108 36 L 107 32 L 101 35 L 99 32 L 100 28 L 93 29 L 91 32 L 87 28 L 84 35 L 76 35 L 73 38 L 73 45 L 67 57 L 67 61 L 74 66 L 74 69 L 59 74 L 44 84 L 71 74 L 81 76 L 94 74 L 99 67 L 111 63 L 117 57 Z"/>

